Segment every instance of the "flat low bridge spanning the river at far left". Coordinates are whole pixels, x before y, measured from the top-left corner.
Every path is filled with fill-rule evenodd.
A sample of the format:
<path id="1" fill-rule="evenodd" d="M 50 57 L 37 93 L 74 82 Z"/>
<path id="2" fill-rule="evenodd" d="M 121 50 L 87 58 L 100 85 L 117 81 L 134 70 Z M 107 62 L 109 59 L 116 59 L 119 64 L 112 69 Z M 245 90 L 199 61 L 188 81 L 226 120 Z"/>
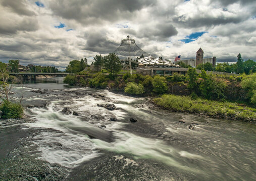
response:
<path id="1" fill-rule="evenodd" d="M 23 80 L 26 79 L 31 79 L 31 80 L 36 80 L 36 75 L 75 75 L 74 73 L 63 73 L 63 72 L 56 72 L 56 73 L 45 73 L 45 72 L 10 72 L 10 75 L 15 75 L 15 76 L 22 76 Z"/>

